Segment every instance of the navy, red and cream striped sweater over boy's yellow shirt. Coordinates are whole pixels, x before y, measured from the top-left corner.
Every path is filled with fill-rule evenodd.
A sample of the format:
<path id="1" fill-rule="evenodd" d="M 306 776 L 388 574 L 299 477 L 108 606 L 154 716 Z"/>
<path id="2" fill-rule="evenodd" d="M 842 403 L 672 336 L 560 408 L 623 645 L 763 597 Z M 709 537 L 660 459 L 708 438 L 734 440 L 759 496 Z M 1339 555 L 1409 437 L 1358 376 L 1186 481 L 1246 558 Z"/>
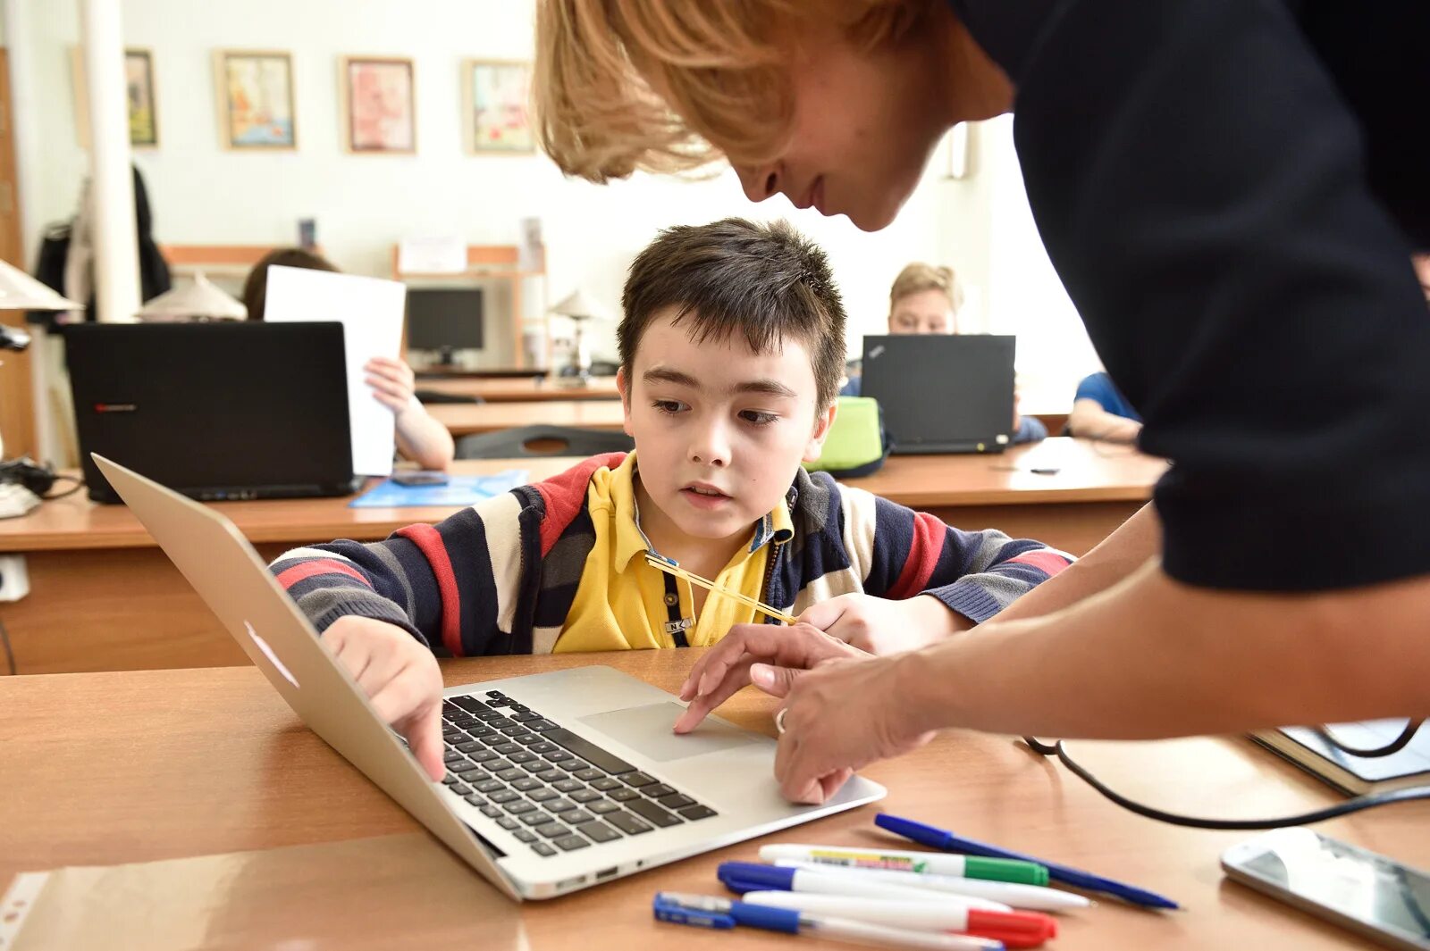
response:
<path id="1" fill-rule="evenodd" d="M 632 573 L 655 571 L 641 558 L 612 565 L 603 538 L 609 531 L 592 518 L 595 487 L 633 470 L 633 460 L 623 460 L 621 453 L 589 458 L 436 525 L 399 528 L 386 541 L 296 548 L 272 571 L 319 631 L 339 617 L 362 615 L 396 624 L 442 655 L 582 650 L 556 645 L 582 578 L 599 568 L 612 584 L 633 587 Z M 825 473 L 799 470 L 786 505 L 788 521 L 779 523 L 789 528 L 766 538 L 759 597 L 788 614 L 848 593 L 892 600 L 931 594 L 981 623 L 1071 561 L 1037 541 L 951 528 Z M 598 508 L 599 518 L 609 517 L 608 507 Z M 665 603 L 674 605 L 679 597 L 669 591 Z M 685 645 L 678 624 L 648 620 L 666 634 L 628 638 L 626 645 Z"/>

